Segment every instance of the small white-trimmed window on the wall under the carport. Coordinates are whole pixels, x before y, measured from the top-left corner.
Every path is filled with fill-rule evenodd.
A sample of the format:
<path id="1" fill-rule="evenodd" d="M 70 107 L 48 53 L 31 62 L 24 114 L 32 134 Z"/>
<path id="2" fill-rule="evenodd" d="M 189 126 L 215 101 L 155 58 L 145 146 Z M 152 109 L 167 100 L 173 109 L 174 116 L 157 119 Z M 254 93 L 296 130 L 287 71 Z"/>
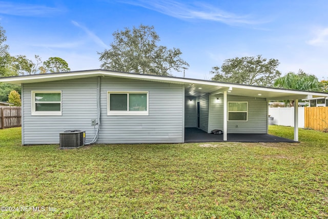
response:
<path id="1" fill-rule="evenodd" d="M 228 102 L 228 121 L 247 122 L 248 102 Z"/>

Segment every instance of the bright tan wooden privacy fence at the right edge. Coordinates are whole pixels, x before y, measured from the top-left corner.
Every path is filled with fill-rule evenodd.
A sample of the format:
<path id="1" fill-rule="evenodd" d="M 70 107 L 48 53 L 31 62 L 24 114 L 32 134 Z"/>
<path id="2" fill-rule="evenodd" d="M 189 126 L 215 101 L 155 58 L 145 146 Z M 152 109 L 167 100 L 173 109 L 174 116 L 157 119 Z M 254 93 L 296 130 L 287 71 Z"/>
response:
<path id="1" fill-rule="evenodd" d="M 305 107 L 304 127 L 319 131 L 328 128 L 328 107 Z"/>

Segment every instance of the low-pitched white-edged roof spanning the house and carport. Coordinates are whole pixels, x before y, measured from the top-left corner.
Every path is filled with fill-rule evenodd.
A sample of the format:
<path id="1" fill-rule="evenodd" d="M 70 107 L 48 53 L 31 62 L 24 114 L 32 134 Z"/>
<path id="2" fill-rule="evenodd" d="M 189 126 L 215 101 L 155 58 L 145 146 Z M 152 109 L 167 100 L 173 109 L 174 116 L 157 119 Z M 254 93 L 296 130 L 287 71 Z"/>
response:
<path id="1" fill-rule="evenodd" d="M 328 97 L 328 93 L 323 92 L 260 87 L 253 85 L 206 81 L 201 79 L 192 79 L 184 77 L 135 74 L 103 69 L 1 77 L 0 82 L 22 85 L 28 83 L 61 81 L 66 79 L 86 78 L 94 76 L 110 76 L 138 79 L 142 81 L 181 84 L 185 86 L 186 96 L 198 96 L 204 93 L 218 94 L 224 91 L 228 91 L 229 95 L 266 98 L 268 101 L 282 99 L 311 99 L 316 97 Z"/>

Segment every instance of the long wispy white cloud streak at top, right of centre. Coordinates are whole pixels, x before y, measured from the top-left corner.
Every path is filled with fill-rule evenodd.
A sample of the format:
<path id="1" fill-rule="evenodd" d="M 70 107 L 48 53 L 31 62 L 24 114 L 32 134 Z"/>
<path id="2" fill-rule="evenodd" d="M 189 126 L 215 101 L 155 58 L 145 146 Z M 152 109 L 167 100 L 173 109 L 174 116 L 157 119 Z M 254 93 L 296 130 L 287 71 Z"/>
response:
<path id="1" fill-rule="evenodd" d="M 255 21 L 249 16 L 239 16 L 234 13 L 223 11 L 208 4 L 183 4 L 173 0 L 136 0 L 122 1 L 123 3 L 136 5 L 157 11 L 179 19 L 202 19 L 207 21 L 221 22 L 224 24 L 260 24 L 264 22 Z"/>

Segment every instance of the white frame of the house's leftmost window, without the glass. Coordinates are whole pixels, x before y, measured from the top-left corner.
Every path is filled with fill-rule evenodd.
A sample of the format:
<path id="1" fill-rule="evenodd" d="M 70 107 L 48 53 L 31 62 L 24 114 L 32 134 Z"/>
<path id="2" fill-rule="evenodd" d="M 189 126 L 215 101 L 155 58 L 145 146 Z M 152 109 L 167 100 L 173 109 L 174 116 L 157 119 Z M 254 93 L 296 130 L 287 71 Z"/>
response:
<path id="1" fill-rule="evenodd" d="M 54 101 L 51 101 L 51 102 L 36 102 L 35 101 L 35 94 L 36 93 L 60 93 L 60 102 L 54 102 Z M 34 90 L 31 92 L 31 97 L 32 97 L 32 101 L 31 101 L 31 115 L 61 115 L 61 107 L 62 107 L 62 95 L 61 95 L 61 91 L 44 91 L 44 90 Z M 49 104 L 49 103 L 53 103 L 53 104 L 60 104 L 60 111 L 36 111 L 35 109 L 35 104 L 36 103 L 43 103 L 43 104 Z"/>

